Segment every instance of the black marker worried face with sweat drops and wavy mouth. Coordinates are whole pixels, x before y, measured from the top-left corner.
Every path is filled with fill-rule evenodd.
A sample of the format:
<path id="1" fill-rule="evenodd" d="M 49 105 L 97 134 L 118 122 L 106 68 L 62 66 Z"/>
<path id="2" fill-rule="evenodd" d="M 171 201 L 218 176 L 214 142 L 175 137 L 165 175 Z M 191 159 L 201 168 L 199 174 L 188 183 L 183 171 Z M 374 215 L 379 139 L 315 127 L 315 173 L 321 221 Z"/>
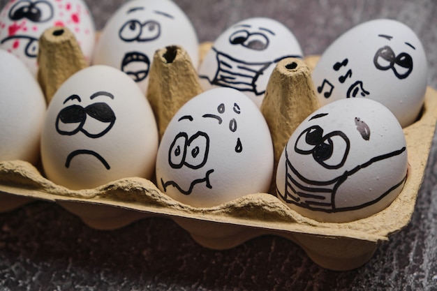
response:
<path id="1" fill-rule="evenodd" d="M 220 116 L 225 113 L 225 104 L 221 103 L 217 107 L 218 114 L 203 114 L 204 119 L 215 119 L 217 124 L 221 126 L 223 124 L 223 118 Z M 232 107 L 233 112 L 240 114 L 241 109 L 237 103 L 234 103 Z M 191 115 L 184 115 L 178 119 L 178 122 L 193 122 L 194 118 Z M 232 118 L 229 123 L 230 133 L 235 133 L 237 131 L 237 120 Z M 168 165 L 172 169 L 184 170 L 184 167 L 188 167 L 191 170 L 196 170 L 199 173 L 198 179 L 191 181 L 188 187 L 184 188 L 181 183 L 174 180 L 164 181 L 161 178 L 161 185 L 163 186 L 164 192 L 167 191 L 168 186 L 173 186 L 177 190 L 184 194 L 190 195 L 193 192 L 193 188 L 197 184 L 205 183 L 207 188 L 212 188 L 212 184 L 209 181 L 209 176 L 214 172 L 214 169 L 207 166 L 207 160 L 209 156 L 210 140 L 209 135 L 203 131 L 198 131 L 193 135 L 188 135 L 184 131 L 180 131 L 172 143 L 168 151 Z M 236 153 L 241 153 L 243 151 L 242 141 L 237 137 L 237 142 L 234 148 Z M 207 170 L 205 170 L 205 168 Z"/>

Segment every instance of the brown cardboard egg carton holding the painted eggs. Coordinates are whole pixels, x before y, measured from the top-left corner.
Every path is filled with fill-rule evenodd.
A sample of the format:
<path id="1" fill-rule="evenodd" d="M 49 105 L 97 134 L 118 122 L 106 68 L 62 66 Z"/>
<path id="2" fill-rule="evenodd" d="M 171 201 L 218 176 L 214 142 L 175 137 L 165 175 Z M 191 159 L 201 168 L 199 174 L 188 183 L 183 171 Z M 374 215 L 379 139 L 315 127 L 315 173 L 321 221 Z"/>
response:
<path id="1" fill-rule="evenodd" d="M 205 50 L 209 46 L 202 44 L 201 48 Z M 168 121 L 169 115 L 165 110 L 161 110 L 161 116 L 157 113 L 159 104 L 169 102 L 162 98 L 191 98 L 198 91 L 198 87 L 194 87 L 188 94 L 178 96 L 181 91 L 168 90 L 177 88 L 178 82 L 197 82 L 192 75 L 195 70 L 181 70 L 191 64 L 184 50 L 172 47 L 171 54 L 168 54 L 168 50 L 165 48 L 155 54 L 150 72 L 150 86 L 154 87 L 151 91 L 155 95 L 147 96 L 160 126 Z M 315 94 L 308 78 L 317 60 L 318 57 L 314 56 L 304 61 L 286 59 L 279 62 L 275 68 L 276 77 L 267 87 L 267 94 L 271 95 L 269 98 L 274 95 L 280 99 L 284 94 L 303 92 L 309 99 L 306 105 L 312 108 L 311 100 Z M 156 69 L 155 66 L 161 68 Z M 155 75 L 158 71 L 163 75 Z M 290 78 L 302 82 L 295 82 L 298 85 L 290 87 L 286 84 Z M 291 107 L 300 108 L 299 104 Z M 124 227 L 142 218 L 161 216 L 171 218 L 188 231 L 195 241 L 207 248 L 232 248 L 254 237 L 271 234 L 294 241 L 322 267 L 334 270 L 355 269 L 370 260 L 380 242 L 387 241 L 390 235 L 402 230 L 410 221 L 424 178 L 436 121 L 437 92 L 428 88 L 420 117 L 414 124 L 403 128 L 409 163 L 403 191 L 383 211 L 350 223 L 314 221 L 291 210 L 270 193 L 253 193 L 217 207 L 195 208 L 168 197 L 159 191 L 153 181 L 138 177 L 119 179 L 94 189 L 72 191 L 54 184 L 43 176 L 40 169 L 24 161 L 0 162 L 0 211 L 9 211 L 34 200 L 57 202 L 82 218 L 87 225 L 103 230 Z M 292 124 L 288 130 L 295 126 L 297 124 Z M 284 138 L 274 137 L 276 147 Z"/>

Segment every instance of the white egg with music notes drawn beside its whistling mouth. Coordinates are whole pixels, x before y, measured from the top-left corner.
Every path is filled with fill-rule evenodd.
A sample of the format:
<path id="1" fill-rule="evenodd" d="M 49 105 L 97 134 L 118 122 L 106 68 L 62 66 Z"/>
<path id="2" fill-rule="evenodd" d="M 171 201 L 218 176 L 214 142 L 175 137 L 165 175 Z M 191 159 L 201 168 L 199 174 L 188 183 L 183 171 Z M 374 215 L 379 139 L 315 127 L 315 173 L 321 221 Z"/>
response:
<path id="1" fill-rule="evenodd" d="M 321 105 L 371 98 L 389 108 L 405 127 L 417 119 L 424 102 L 427 58 L 419 38 L 405 24 L 372 20 L 335 40 L 312 77 Z"/>

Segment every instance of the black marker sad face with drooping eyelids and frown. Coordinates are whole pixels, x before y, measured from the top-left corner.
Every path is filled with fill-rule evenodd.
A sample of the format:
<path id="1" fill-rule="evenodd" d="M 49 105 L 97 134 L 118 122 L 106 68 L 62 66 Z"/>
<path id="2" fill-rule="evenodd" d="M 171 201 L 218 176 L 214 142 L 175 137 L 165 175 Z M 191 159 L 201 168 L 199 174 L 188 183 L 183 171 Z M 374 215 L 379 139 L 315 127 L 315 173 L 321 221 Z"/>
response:
<path id="1" fill-rule="evenodd" d="M 90 99 L 97 98 L 99 96 L 106 96 L 114 99 L 114 96 L 106 91 L 98 91 L 95 94 L 90 96 Z M 73 94 L 66 98 L 64 104 L 71 100 L 77 100 L 77 102 L 81 102 L 82 99 L 80 96 Z M 105 124 L 103 129 L 100 129 L 96 133 L 90 132 L 89 129 L 85 128 L 86 121 L 88 118 L 92 118 L 96 121 Z M 115 123 L 115 114 L 112 111 L 111 107 L 107 103 L 97 102 L 88 105 L 87 107 L 82 107 L 81 105 L 69 105 L 64 107 L 57 115 L 57 119 L 55 121 L 55 128 L 57 133 L 60 135 L 75 135 L 76 133 L 83 133 L 87 137 L 90 138 L 99 138 L 108 133 L 112 126 Z M 105 158 L 103 158 L 100 154 L 96 153 L 96 151 L 91 151 L 89 149 L 77 149 L 71 152 L 66 158 L 66 167 L 70 167 L 71 160 L 78 155 L 87 154 L 94 156 L 101 161 L 101 163 L 105 166 L 107 170 L 110 170 L 110 165 Z"/>

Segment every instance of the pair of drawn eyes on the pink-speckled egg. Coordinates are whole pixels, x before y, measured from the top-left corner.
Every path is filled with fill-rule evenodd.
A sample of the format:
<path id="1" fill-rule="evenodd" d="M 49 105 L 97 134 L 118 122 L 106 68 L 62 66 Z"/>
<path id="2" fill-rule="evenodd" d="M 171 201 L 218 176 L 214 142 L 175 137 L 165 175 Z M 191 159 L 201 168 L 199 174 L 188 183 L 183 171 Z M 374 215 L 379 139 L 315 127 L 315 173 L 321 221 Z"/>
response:
<path id="1" fill-rule="evenodd" d="M 11 20 L 27 18 L 31 22 L 46 22 L 53 17 L 53 8 L 47 1 L 19 1 L 9 10 Z"/>

